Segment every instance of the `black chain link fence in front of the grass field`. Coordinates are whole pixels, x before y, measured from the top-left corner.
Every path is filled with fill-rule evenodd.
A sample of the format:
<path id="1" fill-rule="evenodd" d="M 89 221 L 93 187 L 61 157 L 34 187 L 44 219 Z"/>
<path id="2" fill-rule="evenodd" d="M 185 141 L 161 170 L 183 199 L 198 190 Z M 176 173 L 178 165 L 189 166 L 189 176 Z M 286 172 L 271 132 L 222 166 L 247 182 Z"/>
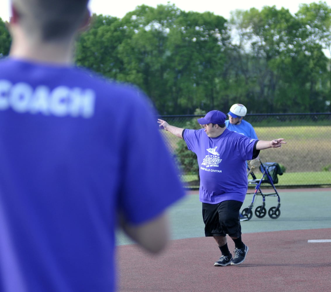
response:
<path id="1" fill-rule="evenodd" d="M 199 129 L 197 118 L 204 115 L 160 116 L 170 125 Z M 284 138 L 281 149 L 260 151 L 264 162 L 277 162 L 283 175 L 278 176 L 278 187 L 331 186 L 331 113 L 247 114 L 259 140 Z M 187 150 L 182 139 L 162 131 L 170 151 L 181 169 L 181 179 L 187 188 L 199 188 L 199 166 L 196 155 Z M 257 174 L 262 176 L 260 171 Z M 264 187 L 264 186 L 263 186 Z M 270 186 L 271 187 L 271 186 Z"/>

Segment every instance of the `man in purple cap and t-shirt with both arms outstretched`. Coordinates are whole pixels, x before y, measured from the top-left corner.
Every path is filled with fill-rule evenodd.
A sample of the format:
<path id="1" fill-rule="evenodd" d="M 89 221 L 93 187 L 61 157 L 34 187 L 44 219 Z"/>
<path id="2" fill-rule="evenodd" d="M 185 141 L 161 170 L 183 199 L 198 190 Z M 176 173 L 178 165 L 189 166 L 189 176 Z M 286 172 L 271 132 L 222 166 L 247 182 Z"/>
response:
<path id="1" fill-rule="evenodd" d="M 198 119 L 204 126 L 199 130 L 182 129 L 158 120 L 160 128 L 184 139 L 188 149 L 197 154 L 205 235 L 214 237 L 222 253 L 214 266 L 241 264 L 248 252 L 241 239 L 239 220 L 248 188 L 246 160 L 257 157 L 262 149 L 286 143 L 284 139 L 259 141 L 230 131 L 225 127 L 225 118 L 223 112 L 212 110 Z M 226 234 L 234 241 L 234 257 Z"/>

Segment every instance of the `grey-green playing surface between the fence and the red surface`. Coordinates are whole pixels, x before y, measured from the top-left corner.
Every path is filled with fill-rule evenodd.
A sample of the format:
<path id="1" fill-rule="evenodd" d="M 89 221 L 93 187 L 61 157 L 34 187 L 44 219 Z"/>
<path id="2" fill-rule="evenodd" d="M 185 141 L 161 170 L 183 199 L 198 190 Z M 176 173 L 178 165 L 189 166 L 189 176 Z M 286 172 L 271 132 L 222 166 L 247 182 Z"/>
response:
<path id="1" fill-rule="evenodd" d="M 270 189 L 262 190 L 270 193 Z M 245 233 L 331 228 L 331 188 L 277 189 L 280 196 L 280 217 L 271 219 L 268 215 L 257 218 L 255 208 L 262 203 L 258 196 L 253 207 L 253 217 L 241 223 L 243 238 Z M 242 209 L 249 207 L 253 194 L 246 195 Z M 277 198 L 267 196 L 265 208 L 277 206 Z M 204 237 L 201 202 L 198 191 L 189 191 L 188 195 L 170 209 L 172 239 Z M 133 243 L 121 232 L 118 233 L 118 245 Z M 330 290 L 331 291 L 331 290 Z"/>

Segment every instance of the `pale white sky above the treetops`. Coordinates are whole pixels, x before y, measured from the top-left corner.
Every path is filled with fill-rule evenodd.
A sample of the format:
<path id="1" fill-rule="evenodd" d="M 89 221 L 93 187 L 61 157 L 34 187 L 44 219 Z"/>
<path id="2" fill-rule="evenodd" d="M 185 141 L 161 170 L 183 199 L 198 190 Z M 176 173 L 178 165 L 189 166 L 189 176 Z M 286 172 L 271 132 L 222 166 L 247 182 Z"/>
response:
<path id="1" fill-rule="evenodd" d="M 56 1 L 56 0 L 54 0 Z M 70 0 L 68 0 L 70 1 Z M 148 6 L 156 7 L 158 4 L 166 5 L 167 2 L 175 4 L 181 10 L 205 12 L 210 11 L 215 15 L 223 16 L 225 19 L 229 19 L 230 12 L 236 9 L 249 10 L 250 8 L 257 8 L 261 10 L 263 6 L 275 5 L 277 9 L 284 7 L 288 9 L 292 14 L 296 13 L 299 9 L 299 4 L 313 3 L 318 1 L 304 1 L 304 0 L 119 0 L 119 1 L 107 1 L 107 0 L 90 0 L 90 9 L 92 13 L 116 16 L 122 18 L 127 12 L 133 11 L 137 6 L 145 4 Z M 331 6 L 331 0 L 323 1 L 328 6 Z M 10 0 L 1 0 L 0 4 L 0 17 L 8 21 L 10 16 Z"/>

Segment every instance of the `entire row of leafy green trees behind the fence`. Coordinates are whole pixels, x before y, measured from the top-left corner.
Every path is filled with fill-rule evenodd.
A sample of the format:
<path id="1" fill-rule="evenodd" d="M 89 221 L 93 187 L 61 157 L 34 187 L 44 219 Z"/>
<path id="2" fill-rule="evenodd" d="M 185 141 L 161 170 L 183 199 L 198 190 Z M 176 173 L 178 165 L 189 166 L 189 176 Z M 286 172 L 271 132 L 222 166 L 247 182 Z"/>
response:
<path id="1" fill-rule="evenodd" d="M 327 111 L 330 17 L 325 2 L 295 15 L 275 6 L 237 10 L 229 22 L 173 4 L 141 5 L 122 19 L 93 15 L 76 61 L 139 86 L 163 115 L 238 102 L 249 113 Z"/>

